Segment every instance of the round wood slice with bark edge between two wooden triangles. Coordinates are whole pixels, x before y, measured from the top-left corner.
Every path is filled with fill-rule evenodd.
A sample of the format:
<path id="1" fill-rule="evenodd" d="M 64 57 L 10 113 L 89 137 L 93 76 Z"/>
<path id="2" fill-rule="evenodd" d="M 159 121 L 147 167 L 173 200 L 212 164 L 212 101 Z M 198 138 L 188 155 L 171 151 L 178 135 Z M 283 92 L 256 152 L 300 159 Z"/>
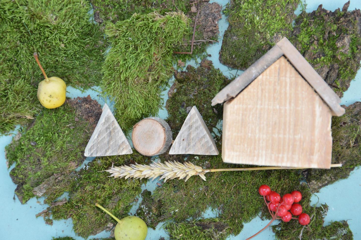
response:
<path id="1" fill-rule="evenodd" d="M 133 126 L 134 148 L 145 156 L 164 153 L 172 142 L 172 131 L 166 121 L 160 118 L 144 118 Z"/>

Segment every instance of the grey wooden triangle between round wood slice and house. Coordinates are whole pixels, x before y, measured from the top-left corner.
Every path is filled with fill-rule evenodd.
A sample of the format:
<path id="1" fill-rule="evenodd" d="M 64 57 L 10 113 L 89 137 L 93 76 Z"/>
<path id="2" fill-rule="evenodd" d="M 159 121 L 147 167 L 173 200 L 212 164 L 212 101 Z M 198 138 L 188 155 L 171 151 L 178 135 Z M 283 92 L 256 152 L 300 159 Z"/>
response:
<path id="1" fill-rule="evenodd" d="M 189 112 L 169 154 L 218 155 L 216 143 L 196 106 Z"/>

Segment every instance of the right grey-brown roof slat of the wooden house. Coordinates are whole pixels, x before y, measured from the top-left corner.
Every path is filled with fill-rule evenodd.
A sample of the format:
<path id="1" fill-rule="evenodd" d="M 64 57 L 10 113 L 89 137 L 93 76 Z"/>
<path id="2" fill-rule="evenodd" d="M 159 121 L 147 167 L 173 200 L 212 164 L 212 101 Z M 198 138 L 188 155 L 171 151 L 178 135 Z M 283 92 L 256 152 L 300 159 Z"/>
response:
<path id="1" fill-rule="evenodd" d="M 336 93 L 327 85 L 325 80 L 313 69 L 302 54 L 292 45 L 287 39 L 283 38 L 277 43 L 277 46 L 282 49 L 284 56 L 291 62 L 293 67 L 301 74 L 301 76 L 314 88 L 314 90 L 321 96 L 323 101 L 329 106 L 332 115 L 341 116 L 345 113 L 345 109 L 340 106 L 341 99 Z"/>

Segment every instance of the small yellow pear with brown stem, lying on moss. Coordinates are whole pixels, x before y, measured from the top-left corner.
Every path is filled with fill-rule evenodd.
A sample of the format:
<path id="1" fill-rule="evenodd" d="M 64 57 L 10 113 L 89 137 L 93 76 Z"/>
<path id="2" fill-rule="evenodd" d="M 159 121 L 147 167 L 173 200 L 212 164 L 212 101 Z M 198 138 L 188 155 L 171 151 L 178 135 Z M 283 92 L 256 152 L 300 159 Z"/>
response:
<path id="1" fill-rule="evenodd" d="M 38 54 L 35 52 L 34 57 L 42 70 L 45 79 L 38 85 L 38 99 L 45 108 L 57 108 L 64 104 L 66 96 L 66 84 L 58 77 L 48 78 L 42 65 L 39 62 Z"/>

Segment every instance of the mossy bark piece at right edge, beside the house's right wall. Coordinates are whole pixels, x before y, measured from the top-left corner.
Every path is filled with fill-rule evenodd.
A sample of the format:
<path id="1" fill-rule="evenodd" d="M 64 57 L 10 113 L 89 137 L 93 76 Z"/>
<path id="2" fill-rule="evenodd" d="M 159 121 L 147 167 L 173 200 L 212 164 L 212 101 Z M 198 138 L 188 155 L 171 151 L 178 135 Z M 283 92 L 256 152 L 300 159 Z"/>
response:
<path id="1" fill-rule="evenodd" d="M 355 167 L 361 165 L 361 102 L 348 107 L 341 117 L 332 117 L 332 163 L 342 163 L 342 167 L 328 170 L 309 169 L 307 183 L 312 192 L 339 179 L 349 176 Z"/>

